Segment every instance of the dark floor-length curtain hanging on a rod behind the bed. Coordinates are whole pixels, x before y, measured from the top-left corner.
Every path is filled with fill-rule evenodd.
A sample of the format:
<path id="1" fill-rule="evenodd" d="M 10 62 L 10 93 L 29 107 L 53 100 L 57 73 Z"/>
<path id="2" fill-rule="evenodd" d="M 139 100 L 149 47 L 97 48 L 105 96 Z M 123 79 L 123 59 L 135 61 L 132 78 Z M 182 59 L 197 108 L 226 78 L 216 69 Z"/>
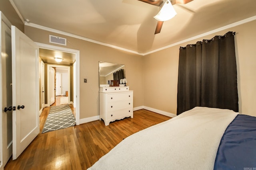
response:
<path id="1" fill-rule="evenodd" d="M 180 47 L 177 115 L 196 106 L 238 112 L 234 34 Z"/>

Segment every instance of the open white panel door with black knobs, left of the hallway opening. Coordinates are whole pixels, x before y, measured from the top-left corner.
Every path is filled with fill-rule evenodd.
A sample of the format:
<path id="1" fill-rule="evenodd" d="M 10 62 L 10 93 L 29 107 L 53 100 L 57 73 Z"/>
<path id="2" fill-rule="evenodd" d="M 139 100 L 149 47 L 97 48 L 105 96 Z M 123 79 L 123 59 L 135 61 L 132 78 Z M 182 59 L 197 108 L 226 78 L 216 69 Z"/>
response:
<path id="1" fill-rule="evenodd" d="M 39 134 L 39 47 L 12 25 L 12 158 Z"/>

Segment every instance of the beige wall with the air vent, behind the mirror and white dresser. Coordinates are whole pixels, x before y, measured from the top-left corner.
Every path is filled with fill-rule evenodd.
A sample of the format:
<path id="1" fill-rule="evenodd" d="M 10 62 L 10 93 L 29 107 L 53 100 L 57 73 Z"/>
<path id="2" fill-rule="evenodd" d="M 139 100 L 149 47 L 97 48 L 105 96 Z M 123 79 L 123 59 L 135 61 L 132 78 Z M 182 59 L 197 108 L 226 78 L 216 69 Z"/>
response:
<path id="1" fill-rule="evenodd" d="M 143 106 L 142 56 L 29 26 L 25 26 L 25 34 L 44 44 L 50 44 L 49 34 L 64 37 L 67 46 L 56 46 L 80 51 L 80 119 L 99 115 L 99 61 L 125 64 L 128 86 L 134 90 L 134 107 Z"/>

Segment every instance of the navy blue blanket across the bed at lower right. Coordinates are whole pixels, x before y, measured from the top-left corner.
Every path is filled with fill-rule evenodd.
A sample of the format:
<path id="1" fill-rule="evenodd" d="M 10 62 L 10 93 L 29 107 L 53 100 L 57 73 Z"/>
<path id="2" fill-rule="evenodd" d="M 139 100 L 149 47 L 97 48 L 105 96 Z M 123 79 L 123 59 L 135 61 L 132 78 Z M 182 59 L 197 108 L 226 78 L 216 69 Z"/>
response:
<path id="1" fill-rule="evenodd" d="M 237 115 L 218 148 L 215 170 L 256 170 L 256 117 Z"/>

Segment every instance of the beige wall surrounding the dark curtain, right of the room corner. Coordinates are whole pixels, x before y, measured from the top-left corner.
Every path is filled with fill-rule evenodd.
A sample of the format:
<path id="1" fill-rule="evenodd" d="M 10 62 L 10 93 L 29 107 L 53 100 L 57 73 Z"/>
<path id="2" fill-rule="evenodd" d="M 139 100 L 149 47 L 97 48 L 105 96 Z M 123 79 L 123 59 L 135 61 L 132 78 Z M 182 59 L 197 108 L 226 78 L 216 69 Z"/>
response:
<path id="1" fill-rule="evenodd" d="M 256 20 L 146 55 L 143 58 L 144 106 L 176 114 L 179 47 L 235 31 L 239 112 L 256 116 L 255 28 Z"/>

